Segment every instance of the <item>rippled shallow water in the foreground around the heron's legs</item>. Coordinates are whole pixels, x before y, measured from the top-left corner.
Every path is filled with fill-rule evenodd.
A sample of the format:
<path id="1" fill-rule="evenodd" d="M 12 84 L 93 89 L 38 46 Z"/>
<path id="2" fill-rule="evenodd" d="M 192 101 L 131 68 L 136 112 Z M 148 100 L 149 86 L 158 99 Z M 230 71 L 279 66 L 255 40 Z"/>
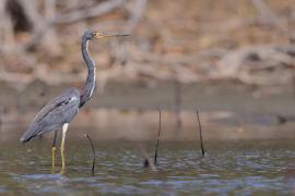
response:
<path id="1" fill-rule="evenodd" d="M 67 171 L 51 174 L 49 140 L 1 145 L 0 194 L 294 194 L 294 142 L 161 143 L 158 169 L 143 169 L 152 143 L 97 142 L 95 175 L 86 142 L 67 143 Z M 57 170 L 59 170 L 57 157 Z"/>

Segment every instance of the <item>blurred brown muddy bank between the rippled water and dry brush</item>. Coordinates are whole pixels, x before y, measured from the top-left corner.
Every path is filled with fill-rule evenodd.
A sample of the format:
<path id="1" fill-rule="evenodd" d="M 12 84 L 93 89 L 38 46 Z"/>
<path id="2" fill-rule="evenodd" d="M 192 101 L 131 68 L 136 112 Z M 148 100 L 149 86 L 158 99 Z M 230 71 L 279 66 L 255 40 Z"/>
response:
<path id="1" fill-rule="evenodd" d="M 35 81 L 22 90 L 1 84 L 1 140 L 16 139 L 35 113 L 62 89 Z M 153 139 L 157 108 L 163 110 L 165 139 L 196 138 L 196 108 L 206 139 L 261 139 L 295 137 L 295 99 L 292 85 L 257 88 L 235 82 L 180 86 L 174 83 L 109 83 L 71 123 L 69 137 L 83 133 L 96 139 Z M 176 107 L 176 99 L 178 105 Z M 175 109 L 180 111 L 177 127 Z M 50 135 L 49 135 L 50 136 Z"/>

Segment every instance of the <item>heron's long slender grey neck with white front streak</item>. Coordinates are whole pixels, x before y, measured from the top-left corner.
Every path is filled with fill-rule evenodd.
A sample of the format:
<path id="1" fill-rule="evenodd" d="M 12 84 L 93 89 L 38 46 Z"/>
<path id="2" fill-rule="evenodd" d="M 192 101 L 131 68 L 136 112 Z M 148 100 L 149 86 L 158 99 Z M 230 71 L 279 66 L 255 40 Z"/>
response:
<path id="1" fill-rule="evenodd" d="M 90 57 L 87 45 L 88 45 L 88 39 L 83 36 L 81 50 L 82 50 L 83 59 L 85 63 L 87 64 L 88 75 L 87 75 L 85 87 L 81 95 L 80 107 L 82 107 L 87 100 L 91 99 L 93 90 L 95 88 L 95 64 L 94 64 L 94 61 Z"/>

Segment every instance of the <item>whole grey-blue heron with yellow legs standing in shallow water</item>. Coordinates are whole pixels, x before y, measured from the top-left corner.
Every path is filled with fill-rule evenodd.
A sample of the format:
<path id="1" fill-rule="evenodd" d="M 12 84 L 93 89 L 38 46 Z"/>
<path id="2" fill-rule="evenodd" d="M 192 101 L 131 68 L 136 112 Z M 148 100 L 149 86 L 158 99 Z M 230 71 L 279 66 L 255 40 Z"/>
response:
<path id="1" fill-rule="evenodd" d="M 126 36 L 115 34 L 104 34 L 87 29 L 82 36 L 81 50 L 83 59 L 88 69 L 86 84 L 83 89 L 71 87 L 66 89 L 61 95 L 47 103 L 35 117 L 27 131 L 21 137 L 21 142 L 26 143 L 37 135 L 43 135 L 55 130 L 52 144 L 52 172 L 55 172 L 55 155 L 57 130 L 62 127 L 62 139 L 60 146 L 61 155 L 61 173 L 64 172 L 64 139 L 69 123 L 76 115 L 79 109 L 91 99 L 95 88 L 95 63 L 91 59 L 87 50 L 87 44 L 92 39 L 107 38 L 114 36 Z"/>

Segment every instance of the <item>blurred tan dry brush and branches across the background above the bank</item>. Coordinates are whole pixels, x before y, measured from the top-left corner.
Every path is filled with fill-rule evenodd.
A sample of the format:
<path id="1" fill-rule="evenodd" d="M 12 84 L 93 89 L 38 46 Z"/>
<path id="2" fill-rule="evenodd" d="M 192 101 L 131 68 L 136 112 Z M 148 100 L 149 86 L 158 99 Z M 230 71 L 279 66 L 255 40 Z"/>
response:
<path id="1" fill-rule="evenodd" d="M 85 28 L 123 32 L 91 45 L 98 84 L 108 79 L 237 79 L 290 83 L 294 0 L 2 0 L 0 79 L 81 83 Z M 50 73 L 50 74 L 48 74 Z"/>

